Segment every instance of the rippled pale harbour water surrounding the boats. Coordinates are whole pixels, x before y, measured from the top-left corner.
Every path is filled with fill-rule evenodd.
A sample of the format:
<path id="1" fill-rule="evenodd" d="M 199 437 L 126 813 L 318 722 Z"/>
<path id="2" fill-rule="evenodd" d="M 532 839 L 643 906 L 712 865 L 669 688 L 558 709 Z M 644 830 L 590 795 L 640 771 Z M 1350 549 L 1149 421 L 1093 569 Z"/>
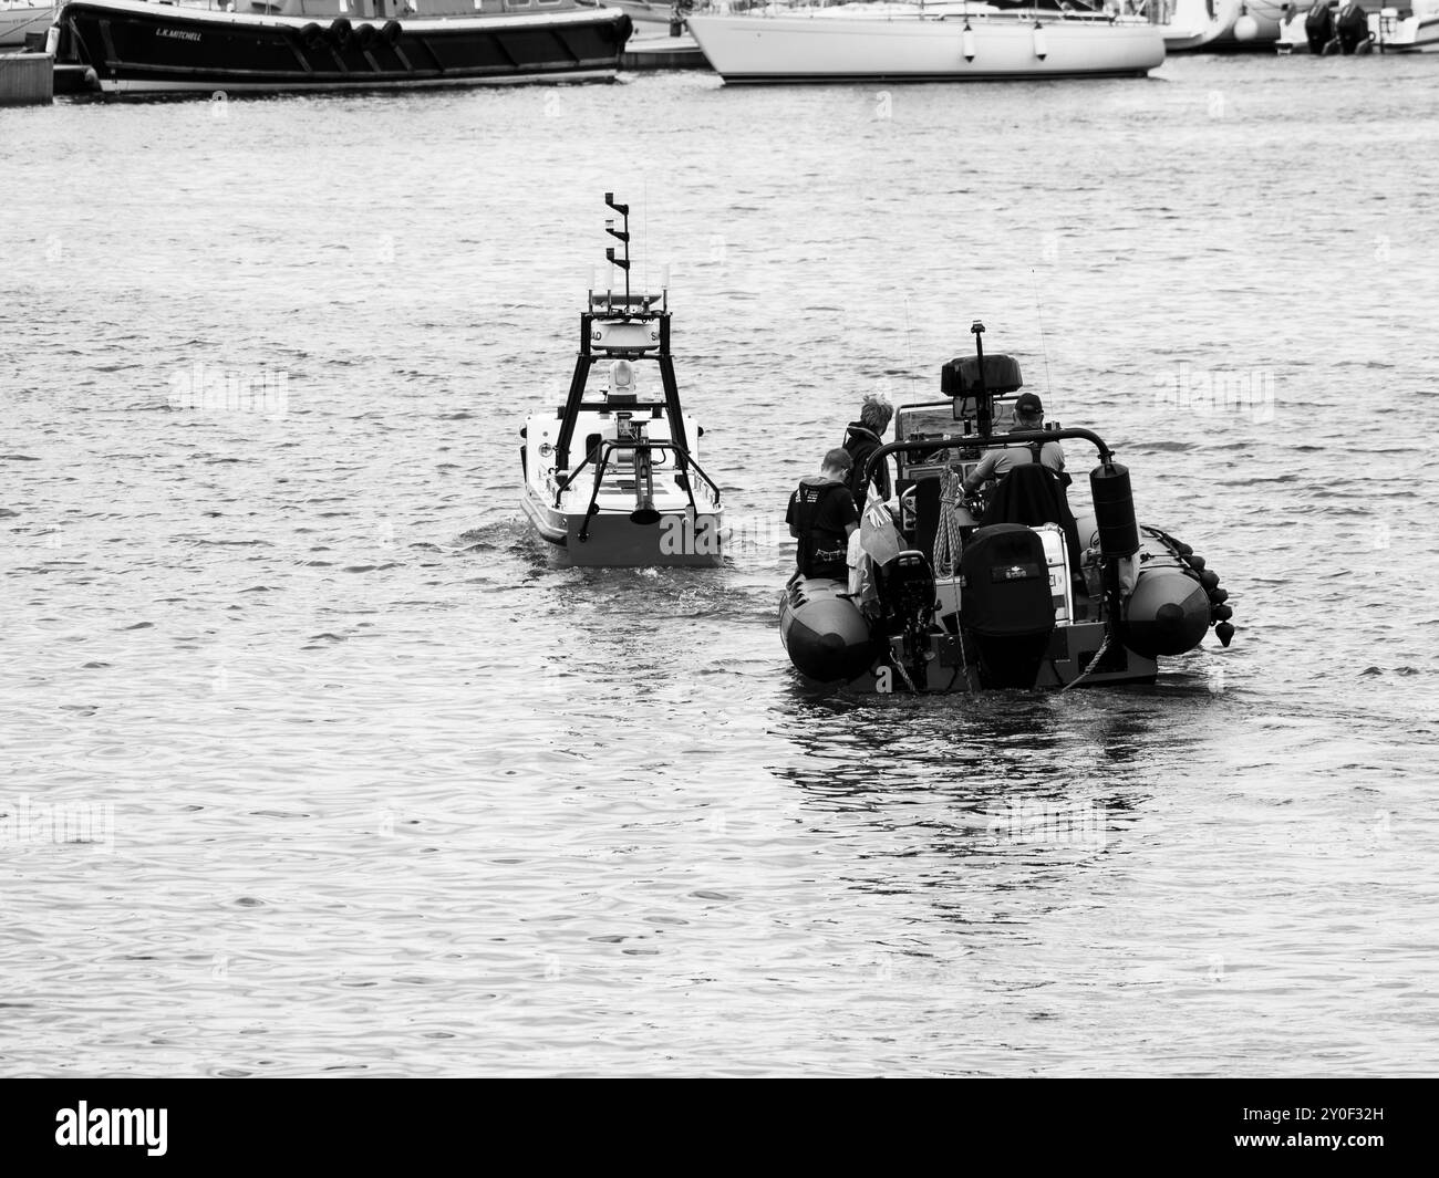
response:
<path id="1" fill-rule="evenodd" d="M 0 1072 L 1432 1074 L 1436 69 L 0 112 Z M 521 525 L 607 188 L 720 571 Z M 799 686 L 789 486 L 976 316 L 1229 650 Z"/>

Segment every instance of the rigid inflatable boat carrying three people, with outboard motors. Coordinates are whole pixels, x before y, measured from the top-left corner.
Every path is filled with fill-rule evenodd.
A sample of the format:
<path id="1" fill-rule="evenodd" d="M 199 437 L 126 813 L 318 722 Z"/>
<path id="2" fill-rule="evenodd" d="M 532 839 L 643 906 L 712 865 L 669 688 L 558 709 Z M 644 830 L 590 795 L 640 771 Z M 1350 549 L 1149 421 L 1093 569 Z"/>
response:
<path id="1" fill-rule="evenodd" d="M 896 498 L 871 496 L 849 581 L 796 574 L 780 597 L 790 662 L 814 683 L 859 692 L 973 692 L 1144 683 L 1158 660 L 1223 646 L 1232 607 L 1203 557 L 1135 519 L 1130 472 L 1089 430 L 999 433 L 996 407 L 1023 380 L 1007 355 L 943 368 L 945 400 L 902 406 L 869 459 L 896 463 Z M 1092 506 L 1078 516 L 1062 476 L 1038 462 L 963 498 L 963 478 L 999 446 L 1086 442 Z M 858 549 L 858 552 L 856 552 Z"/>

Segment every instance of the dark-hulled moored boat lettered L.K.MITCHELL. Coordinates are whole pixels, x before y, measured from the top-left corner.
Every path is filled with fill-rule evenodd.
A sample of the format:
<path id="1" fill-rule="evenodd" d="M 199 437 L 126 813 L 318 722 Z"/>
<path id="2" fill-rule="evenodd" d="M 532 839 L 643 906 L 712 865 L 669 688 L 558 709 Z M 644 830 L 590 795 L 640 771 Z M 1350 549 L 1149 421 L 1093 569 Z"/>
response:
<path id="1" fill-rule="evenodd" d="M 112 95 L 606 79 L 632 27 L 576 0 L 73 0 L 55 23 Z"/>

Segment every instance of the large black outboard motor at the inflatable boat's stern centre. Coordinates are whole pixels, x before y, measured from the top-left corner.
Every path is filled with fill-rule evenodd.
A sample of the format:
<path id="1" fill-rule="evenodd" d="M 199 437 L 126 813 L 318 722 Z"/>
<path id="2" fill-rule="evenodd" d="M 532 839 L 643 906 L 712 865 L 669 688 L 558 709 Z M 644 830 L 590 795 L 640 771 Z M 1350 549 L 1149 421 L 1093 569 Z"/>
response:
<path id="1" fill-rule="evenodd" d="M 1055 629 L 1045 542 L 1020 524 L 980 528 L 960 571 L 960 621 L 979 650 L 980 680 L 987 688 L 1033 688 Z"/>

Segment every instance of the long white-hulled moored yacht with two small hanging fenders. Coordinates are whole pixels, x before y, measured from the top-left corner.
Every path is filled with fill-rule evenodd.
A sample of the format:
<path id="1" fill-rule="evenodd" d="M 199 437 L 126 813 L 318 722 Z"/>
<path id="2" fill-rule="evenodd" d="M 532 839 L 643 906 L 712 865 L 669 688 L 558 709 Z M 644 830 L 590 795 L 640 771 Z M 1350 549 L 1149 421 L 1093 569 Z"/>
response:
<path id="1" fill-rule="evenodd" d="M 1084 0 L 768 9 L 691 16 L 689 32 L 725 82 L 1140 76 L 1164 60 L 1145 17 Z"/>

